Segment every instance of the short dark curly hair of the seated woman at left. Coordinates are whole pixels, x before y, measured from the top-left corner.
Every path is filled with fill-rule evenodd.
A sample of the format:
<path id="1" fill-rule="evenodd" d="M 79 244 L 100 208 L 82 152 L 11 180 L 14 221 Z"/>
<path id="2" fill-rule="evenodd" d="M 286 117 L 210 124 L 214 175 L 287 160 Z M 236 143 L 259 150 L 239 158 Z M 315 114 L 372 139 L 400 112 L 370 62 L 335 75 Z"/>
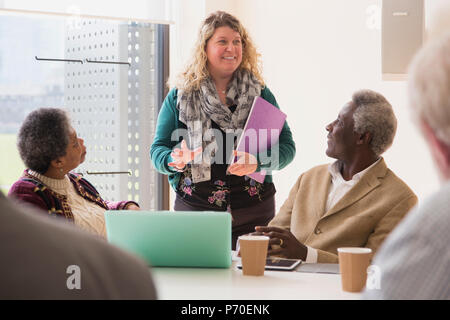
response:
<path id="1" fill-rule="evenodd" d="M 24 164 L 44 174 L 52 160 L 66 154 L 70 121 L 57 108 L 40 108 L 28 114 L 19 130 L 17 147 Z"/>

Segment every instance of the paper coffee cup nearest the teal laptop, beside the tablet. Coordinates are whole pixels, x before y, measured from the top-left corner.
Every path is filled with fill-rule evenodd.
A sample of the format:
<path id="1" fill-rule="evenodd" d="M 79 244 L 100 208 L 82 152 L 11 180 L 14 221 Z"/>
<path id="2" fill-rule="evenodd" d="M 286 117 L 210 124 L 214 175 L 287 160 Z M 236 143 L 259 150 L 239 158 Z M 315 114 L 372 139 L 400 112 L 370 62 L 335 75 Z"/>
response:
<path id="1" fill-rule="evenodd" d="M 239 246 L 242 261 L 242 273 L 245 276 L 263 276 L 266 267 L 269 237 L 240 236 Z"/>

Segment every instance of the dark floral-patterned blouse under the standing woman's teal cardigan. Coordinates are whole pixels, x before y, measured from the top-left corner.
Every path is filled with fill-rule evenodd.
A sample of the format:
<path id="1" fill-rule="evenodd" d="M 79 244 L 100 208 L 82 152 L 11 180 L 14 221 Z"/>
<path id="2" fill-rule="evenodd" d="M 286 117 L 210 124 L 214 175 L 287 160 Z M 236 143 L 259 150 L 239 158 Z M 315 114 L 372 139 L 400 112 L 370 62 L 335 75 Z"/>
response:
<path id="1" fill-rule="evenodd" d="M 230 107 L 231 112 L 236 110 L 236 106 Z M 222 139 L 216 141 L 228 141 L 234 139 L 234 135 L 228 135 L 220 127 L 212 122 L 212 128 L 220 130 Z M 217 132 L 217 131 L 216 131 Z M 199 183 L 192 182 L 190 165 L 183 172 L 178 184 L 177 197 L 189 206 L 199 210 L 231 211 L 233 209 L 247 208 L 264 201 L 275 194 L 275 186 L 270 183 L 259 183 L 247 176 L 239 177 L 227 174 L 227 159 L 230 159 L 230 152 L 223 152 L 224 164 L 211 165 L 211 180 Z"/>

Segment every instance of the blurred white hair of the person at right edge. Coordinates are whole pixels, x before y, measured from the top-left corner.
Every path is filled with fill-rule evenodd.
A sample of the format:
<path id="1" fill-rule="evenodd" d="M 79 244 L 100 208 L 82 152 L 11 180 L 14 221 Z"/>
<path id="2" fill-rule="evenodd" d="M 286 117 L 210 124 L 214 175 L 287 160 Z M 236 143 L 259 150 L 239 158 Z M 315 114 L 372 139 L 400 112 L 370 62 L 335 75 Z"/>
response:
<path id="1" fill-rule="evenodd" d="M 450 33 L 426 44 L 409 67 L 408 104 L 450 145 Z"/>

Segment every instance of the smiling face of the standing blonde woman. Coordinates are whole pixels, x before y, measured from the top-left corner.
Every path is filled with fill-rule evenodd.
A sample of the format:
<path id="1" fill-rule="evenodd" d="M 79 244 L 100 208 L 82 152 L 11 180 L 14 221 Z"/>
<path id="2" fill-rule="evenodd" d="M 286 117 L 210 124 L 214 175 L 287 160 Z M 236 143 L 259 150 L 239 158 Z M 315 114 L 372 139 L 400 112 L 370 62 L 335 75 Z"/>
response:
<path id="1" fill-rule="evenodd" d="M 213 78 L 226 78 L 242 62 L 242 40 L 239 32 L 230 27 L 219 27 L 206 43 L 207 67 Z"/>

